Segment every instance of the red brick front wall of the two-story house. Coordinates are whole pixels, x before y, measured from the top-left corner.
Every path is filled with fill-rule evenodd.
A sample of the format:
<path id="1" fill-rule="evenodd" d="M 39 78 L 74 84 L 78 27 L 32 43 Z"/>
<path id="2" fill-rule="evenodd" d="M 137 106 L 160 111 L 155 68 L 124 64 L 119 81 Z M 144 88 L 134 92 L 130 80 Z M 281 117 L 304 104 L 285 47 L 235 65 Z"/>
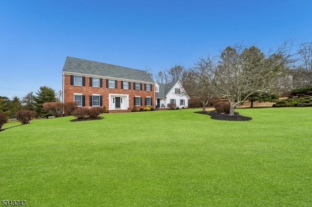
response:
<path id="1" fill-rule="evenodd" d="M 85 86 L 71 86 L 70 85 L 70 75 L 64 74 L 63 77 L 63 102 L 73 102 L 74 101 L 74 93 L 82 93 L 85 95 L 85 106 L 89 106 L 89 96 L 92 94 L 99 94 L 103 96 L 103 106 L 106 106 L 107 110 L 110 110 L 108 107 L 108 99 L 107 96 L 109 93 L 113 94 L 129 94 L 129 107 L 133 107 L 133 100 L 135 96 L 140 96 L 144 100 L 146 96 L 152 98 L 152 103 L 150 107 L 155 108 L 155 85 L 152 85 L 152 91 L 145 91 L 144 84 L 142 84 L 142 90 L 134 90 L 133 82 L 131 82 L 131 89 L 121 89 L 121 81 L 117 81 L 117 88 L 106 88 L 106 79 L 103 79 L 103 87 L 92 87 L 90 86 L 90 77 L 85 76 Z M 111 79 L 113 80 L 113 79 Z M 141 106 L 142 108 L 145 107 L 144 101 Z M 139 109 L 139 107 L 137 107 Z"/>

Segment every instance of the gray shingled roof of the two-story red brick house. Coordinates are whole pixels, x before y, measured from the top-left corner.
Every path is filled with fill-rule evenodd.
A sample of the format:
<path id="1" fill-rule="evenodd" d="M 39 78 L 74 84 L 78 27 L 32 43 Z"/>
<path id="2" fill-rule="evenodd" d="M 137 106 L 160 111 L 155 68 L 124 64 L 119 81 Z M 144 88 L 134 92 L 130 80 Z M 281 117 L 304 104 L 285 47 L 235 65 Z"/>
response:
<path id="1" fill-rule="evenodd" d="M 97 75 L 117 79 L 135 80 L 141 82 L 154 83 L 150 75 L 144 70 L 131 69 L 121 66 L 99 63 L 90 60 L 67 57 L 63 72 L 80 73 L 85 75 Z"/>

